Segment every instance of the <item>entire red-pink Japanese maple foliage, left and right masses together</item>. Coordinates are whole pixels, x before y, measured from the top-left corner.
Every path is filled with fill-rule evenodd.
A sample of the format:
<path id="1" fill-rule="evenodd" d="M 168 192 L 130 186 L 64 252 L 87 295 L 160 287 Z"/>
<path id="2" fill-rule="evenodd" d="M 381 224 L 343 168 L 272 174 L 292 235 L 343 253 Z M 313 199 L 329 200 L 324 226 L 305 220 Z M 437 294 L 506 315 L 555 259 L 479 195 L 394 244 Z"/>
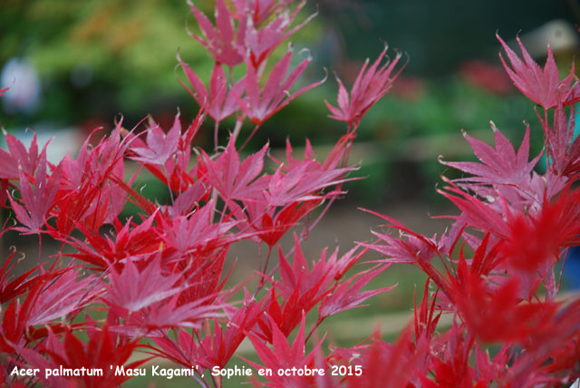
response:
<path id="1" fill-rule="evenodd" d="M 445 179 L 441 190 L 460 210 L 451 228 L 428 238 L 382 216 L 399 229 L 396 237 L 374 232 L 374 243 L 343 255 L 324 250 L 313 260 L 301 244 L 343 195 L 343 182 L 353 179 L 348 159 L 358 125 L 388 92 L 401 54 L 385 60 L 385 48 L 364 63 L 350 91 L 339 81 L 337 105 L 326 104 L 347 129 L 324 161 L 314 158 L 307 141 L 304 156 L 295 156 L 288 141 L 285 160 L 270 158 L 275 168 L 269 170 L 268 144 L 243 159 L 240 150 L 264 121 L 320 83 L 294 87 L 312 58 L 291 68 L 292 46 L 268 66 L 276 47 L 310 20 L 295 22 L 304 1 L 216 0 L 213 21 L 189 7 L 199 27 L 192 37 L 215 61 L 204 82 L 178 56 L 183 85 L 201 107 L 194 121 L 182 125 L 178 114 L 167 131 L 152 118 L 131 131 L 119 121 L 97 145 L 87 139 L 76 158 L 58 164 L 46 160 L 36 138 L 26 149 L 5 135 L 0 200 L 11 218 L 2 233 L 13 229 L 37 236 L 39 247 L 43 238 L 63 246 L 21 276 L 11 276 L 14 250 L 0 269 L 6 385 L 116 386 L 131 378 L 117 373 L 121 366 L 138 370 L 157 357 L 179 364 L 199 386 L 220 387 L 227 380 L 210 372 L 226 367 L 245 338 L 260 359 L 248 366 L 325 371 L 274 373 L 253 378 L 256 386 L 527 387 L 580 375 L 580 301 L 556 299 L 555 269 L 580 233 L 574 189 L 580 141 L 572 136 L 580 89 L 573 71 L 560 81 L 551 53 L 542 70 L 523 46 L 521 60 L 500 40 L 507 73 L 540 107 L 546 172 L 534 170 L 539 156 L 529 158 L 528 126 L 516 151 L 492 125 L 494 147 L 466 135 L 480 163 L 442 161 L 469 174 Z M 234 78 L 238 73 L 244 75 Z M 214 150 L 194 149 L 207 116 Z M 231 116 L 236 124 L 227 144 L 219 144 L 219 131 L 227 130 L 222 122 Z M 249 133 L 247 121 L 254 126 Z M 139 168 L 125 180 L 128 163 Z M 144 169 L 167 186 L 168 203 L 152 202 L 135 188 Z M 121 219 L 127 202 L 140 209 L 138 217 Z M 306 222 L 314 209 L 320 215 Z M 285 252 L 279 241 L 290 229 L 295 244 Z M 225 258 L 241 240 L 256 244 L 257 278 L 230 287 L 235 268 Z M 347 275 L 369 249 L 385 257 Z M 410 263 L 429 276 L 398 341 L 373 335 L 353 348 L 327 350 L 316 328 L 391 289 L 362 290 L 393 263 Z M 96 319 L 96 311 L 106 318 Z M 313 325 L 306 324 L 309 313 L 316 315 Z M 438 328 L 442 315 L 452 317 L 450 328 Z M 496 344 L 493 354 L 489 344 Z M 82 373 L 20 375 L 34 368 Z M 92 375 L 95 369 L 102 375 Z"/>

